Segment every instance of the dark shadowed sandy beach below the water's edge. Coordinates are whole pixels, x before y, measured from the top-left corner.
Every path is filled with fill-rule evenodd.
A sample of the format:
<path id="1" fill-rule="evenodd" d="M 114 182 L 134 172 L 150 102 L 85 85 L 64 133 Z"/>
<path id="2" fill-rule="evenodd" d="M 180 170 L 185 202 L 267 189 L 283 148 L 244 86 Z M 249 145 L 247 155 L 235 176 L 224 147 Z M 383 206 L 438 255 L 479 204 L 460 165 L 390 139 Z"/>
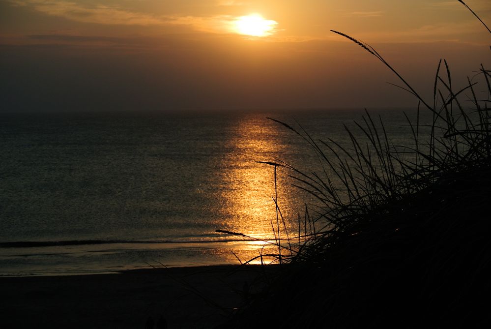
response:
<path id="1" fill-rule="evenodd" d="M 155 323 L 162 317 L 168 328 L 213 328 L 241 307 L 245 282 L 258 289 L 256 279 L 273 270 L 209 266 L 0 278 L 0 327 L 145 328 L 150 317 Z"/>

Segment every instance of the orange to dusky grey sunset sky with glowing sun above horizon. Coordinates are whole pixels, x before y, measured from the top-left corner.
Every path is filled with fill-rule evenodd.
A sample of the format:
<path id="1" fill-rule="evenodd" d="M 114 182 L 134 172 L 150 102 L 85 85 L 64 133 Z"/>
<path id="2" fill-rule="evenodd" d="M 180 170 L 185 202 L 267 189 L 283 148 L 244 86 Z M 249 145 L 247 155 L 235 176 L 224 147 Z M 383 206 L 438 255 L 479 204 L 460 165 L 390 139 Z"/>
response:
<path id="1" fill-rule="evenodd" d="M 466 3 L 490 26 L 491 1 Z M 1 111 L 414 106 L 491 37 L 457 0 L 0 0 Z"/>

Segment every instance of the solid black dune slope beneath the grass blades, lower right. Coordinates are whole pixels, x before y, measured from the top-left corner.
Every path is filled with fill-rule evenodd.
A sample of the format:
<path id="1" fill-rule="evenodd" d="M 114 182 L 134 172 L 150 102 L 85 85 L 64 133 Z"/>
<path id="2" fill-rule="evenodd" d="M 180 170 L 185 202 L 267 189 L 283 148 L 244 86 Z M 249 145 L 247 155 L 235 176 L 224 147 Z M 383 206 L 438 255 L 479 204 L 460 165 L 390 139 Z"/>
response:
<path id="1" fill-rule="evenodd" d="M 447 173 L 318 241 L 221 328 L 489 328 L 490 204 L 489 165 Z"/>

